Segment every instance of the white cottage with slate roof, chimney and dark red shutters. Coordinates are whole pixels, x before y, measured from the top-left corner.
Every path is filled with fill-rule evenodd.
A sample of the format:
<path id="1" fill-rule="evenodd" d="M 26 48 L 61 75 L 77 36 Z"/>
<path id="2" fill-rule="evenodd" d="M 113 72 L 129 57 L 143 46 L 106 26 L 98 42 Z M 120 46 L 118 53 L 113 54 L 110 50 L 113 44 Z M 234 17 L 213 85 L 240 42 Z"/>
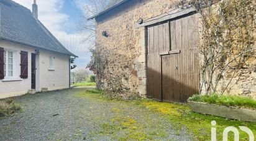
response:
<path id="1" fill-rule="evenodd" d="M 76 57 L 43 26 L 33 10 L 0 0 L 0 99 L 70 87 Z"/>

